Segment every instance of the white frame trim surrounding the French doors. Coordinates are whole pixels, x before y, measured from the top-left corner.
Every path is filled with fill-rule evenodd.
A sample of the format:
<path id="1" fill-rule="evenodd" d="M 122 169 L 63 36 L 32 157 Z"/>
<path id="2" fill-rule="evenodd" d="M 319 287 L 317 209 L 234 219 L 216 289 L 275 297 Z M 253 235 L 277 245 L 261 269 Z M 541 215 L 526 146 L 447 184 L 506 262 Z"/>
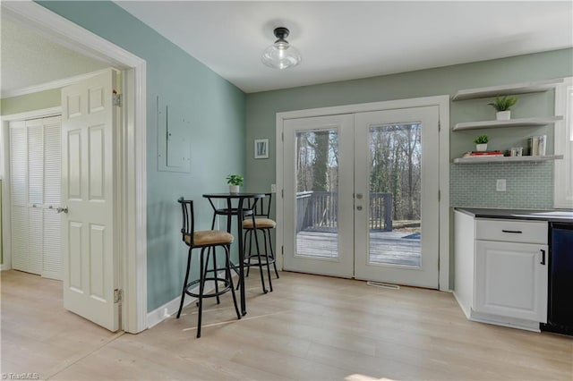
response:
<path id="1" fill-rule="evenodd" d="M 440 144 L 440 190 L 438 198 L 440 200 L 439 209 L 439 289 L 440 291 L 449 291 L 449 95 L 435 97 L 416 97 L 409 99 L 397 99 L 381 102 L 363 103 L 355 105 L 331 106 L 310 108 L 306 110 L 295 110 L 277 113 L 276 117 L 276 147 L 277 147 L 277 192 L 282 194 L 284 190 L 283 183 L 283 123 L 288 119 L 306 118 L 312 116 L 327 116 L 333 114 L 356 114 L 369 111 L 385 111 L 399 108 L 412 108 L 423 106 L 438 106 L 440 115 L 439 127 L 439 144 Z M 277 223 L 278 226 L 284 226 L 284 206 L 283 198 L 277 198 Z M 284 246 L 283 228 L 277 228 L 276 247 Z M 278 256 L 279 266 L 282 268 L 282 256 Z"/>

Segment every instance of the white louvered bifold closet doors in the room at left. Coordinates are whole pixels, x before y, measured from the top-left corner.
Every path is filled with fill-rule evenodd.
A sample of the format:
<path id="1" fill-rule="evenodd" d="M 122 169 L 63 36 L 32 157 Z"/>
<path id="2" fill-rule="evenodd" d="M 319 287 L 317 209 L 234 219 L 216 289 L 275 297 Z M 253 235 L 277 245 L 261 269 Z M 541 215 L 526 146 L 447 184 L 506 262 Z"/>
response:
<path id="1" fill-rule="evenodd" d="M 10 123 L 13 268 L 62 278 L 61 118 Z"/>

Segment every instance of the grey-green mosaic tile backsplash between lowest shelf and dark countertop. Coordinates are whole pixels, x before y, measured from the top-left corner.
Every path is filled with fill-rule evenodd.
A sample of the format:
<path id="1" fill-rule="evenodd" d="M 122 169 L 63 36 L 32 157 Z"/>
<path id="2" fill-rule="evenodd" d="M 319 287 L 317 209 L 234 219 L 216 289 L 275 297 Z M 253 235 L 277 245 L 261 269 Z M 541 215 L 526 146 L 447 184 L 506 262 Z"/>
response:
<path id="1" fill-rule="evenodd" d="M 498 179 L 506 191 L 496 191 Z M 451 207 L 553 207 L 553 162 L 452 164 L 449 166 Z"/>

